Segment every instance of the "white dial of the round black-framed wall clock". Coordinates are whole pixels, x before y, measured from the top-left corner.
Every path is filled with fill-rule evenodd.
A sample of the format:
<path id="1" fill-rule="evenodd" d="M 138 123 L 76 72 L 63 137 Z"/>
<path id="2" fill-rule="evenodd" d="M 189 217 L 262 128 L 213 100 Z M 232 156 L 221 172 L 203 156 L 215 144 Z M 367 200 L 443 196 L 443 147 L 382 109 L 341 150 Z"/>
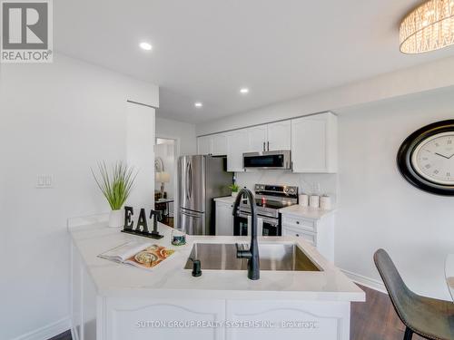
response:
<path id="1" fill-rule="evenodd" d="M 454 131 L 438 133 L 419 142 L 410 162 L 424 179 L 454 185 Z"/>

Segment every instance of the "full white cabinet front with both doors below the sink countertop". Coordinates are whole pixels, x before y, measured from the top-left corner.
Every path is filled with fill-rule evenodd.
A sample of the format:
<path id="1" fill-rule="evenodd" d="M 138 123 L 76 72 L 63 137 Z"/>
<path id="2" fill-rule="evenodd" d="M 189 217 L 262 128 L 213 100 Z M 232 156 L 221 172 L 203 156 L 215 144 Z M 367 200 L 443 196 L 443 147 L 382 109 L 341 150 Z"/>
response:
<path id="1" fill-rule="evenodd" d="M 96 301 L 97 334 L 74 340 L 350 339 L 348 301 L 113 296 Z"/>

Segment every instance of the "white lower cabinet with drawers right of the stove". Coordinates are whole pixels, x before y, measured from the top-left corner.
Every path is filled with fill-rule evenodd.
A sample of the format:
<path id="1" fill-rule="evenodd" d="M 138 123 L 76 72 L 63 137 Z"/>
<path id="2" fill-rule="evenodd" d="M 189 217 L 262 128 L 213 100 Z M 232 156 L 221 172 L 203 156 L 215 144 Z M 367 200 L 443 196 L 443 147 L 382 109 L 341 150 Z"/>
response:
<path id="1" fill-rule="evenodd" d="M 303 238 L 324 257 L 334 262 L 334 219 L 331 212 L 321 219 L 307 219 L 298 215 L 282 214 L 282 236 Z"/>

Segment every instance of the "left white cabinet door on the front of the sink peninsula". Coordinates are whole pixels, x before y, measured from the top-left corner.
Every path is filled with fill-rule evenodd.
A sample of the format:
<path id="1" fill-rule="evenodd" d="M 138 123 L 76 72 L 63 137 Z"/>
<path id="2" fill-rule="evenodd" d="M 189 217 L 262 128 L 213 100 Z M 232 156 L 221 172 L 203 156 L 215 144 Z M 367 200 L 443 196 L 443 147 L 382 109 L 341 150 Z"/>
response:
<path id="1" fill-rule="evenodd" d="M 225 300 L 106 298 L 105 340 L 222 340 Z"/>

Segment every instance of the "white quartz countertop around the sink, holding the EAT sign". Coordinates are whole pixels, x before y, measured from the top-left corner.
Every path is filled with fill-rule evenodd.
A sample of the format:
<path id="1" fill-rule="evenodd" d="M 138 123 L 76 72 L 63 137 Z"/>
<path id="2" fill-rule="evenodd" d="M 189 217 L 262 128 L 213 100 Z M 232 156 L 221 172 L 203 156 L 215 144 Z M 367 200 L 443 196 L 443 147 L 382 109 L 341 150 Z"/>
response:
<path id="1" fill-rule="evenodd" d="M 183 268 L 193 243 L 249 243 L 248 237 L 188 236 L 187 245 L 173 247 L 170 242 L 172 228 L 163 224 L 159 225 L 159 231 L 164 238 L 159 240 L 125 234 L 106 225 L 106 222 L 94 222 L 68 228 L 74 248 L 93 278 L 97 293 L 102 296 L 365 300 L 359 287 L 301 238 L 259 238 L 259 243 L 297 243 L 322 268 L 321 272 L 262 270 L 260 280 L 252 281 L 245 270 L 202 270 L 201 277 L 192 277 L 191 269 Z M 126 241 L 148 239 L 176 251 L 151 270 L 97 257 Z"/>

